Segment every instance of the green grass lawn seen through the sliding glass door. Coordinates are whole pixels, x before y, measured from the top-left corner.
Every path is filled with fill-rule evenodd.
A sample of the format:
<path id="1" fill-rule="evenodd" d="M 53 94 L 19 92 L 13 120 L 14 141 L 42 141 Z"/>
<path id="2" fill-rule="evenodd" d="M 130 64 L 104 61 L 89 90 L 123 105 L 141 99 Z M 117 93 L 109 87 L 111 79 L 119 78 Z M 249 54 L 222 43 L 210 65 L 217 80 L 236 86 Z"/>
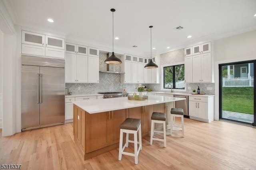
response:
<path id="1" fill-rule="evenodd" d="M 253 114 L 253 87 L 222 87 L 222 109 Z"/>

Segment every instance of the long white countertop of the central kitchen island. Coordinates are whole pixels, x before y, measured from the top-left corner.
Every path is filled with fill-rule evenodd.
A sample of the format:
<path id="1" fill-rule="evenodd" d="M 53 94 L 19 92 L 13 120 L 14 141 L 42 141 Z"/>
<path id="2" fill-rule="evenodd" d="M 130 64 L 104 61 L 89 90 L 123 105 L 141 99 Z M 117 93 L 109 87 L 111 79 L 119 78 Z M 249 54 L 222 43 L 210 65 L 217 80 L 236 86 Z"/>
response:
<path id="1" fill-rule="evenodd" d="M 148 96 L 148 100 L 145 101 L 133 101 L 124 98 L 108 98 L 97 100 L 83 100 L 75 101 L 73 104 L 84 109 L 88 113 L 100 113 L 104 111 L 127 109 L 132 107 L 147 106 L 153 104 L 161 104 L 166 102 L 174 102 L 178 100 L 185 100 L 185 98 L 174 98 L 167 96 Z"/>

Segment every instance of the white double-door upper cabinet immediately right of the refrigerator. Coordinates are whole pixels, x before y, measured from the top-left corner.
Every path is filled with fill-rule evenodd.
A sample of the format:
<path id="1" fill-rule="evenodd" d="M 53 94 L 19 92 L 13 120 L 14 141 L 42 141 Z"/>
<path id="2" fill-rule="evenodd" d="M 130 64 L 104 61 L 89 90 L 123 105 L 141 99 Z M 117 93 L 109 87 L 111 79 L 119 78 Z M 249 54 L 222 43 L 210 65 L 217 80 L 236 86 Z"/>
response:
<path id="1" fill-rule="evenodd" d="M 88 82 L 88 56 L 66 53 L 65 82 Z"/>

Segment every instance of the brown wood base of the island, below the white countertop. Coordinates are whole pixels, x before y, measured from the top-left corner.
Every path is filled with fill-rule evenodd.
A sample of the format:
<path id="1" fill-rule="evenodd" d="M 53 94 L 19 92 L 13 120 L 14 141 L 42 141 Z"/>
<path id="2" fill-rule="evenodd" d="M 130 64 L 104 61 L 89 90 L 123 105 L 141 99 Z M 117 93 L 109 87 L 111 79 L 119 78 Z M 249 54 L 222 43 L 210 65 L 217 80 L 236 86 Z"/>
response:
<path id="1" fill-rule="evenodd" d="M 161 103 L 90 114 L 74 104 L 74 141 L 84 160 L 92 158 L 119 147 L 120 124 L 126 118 L 141 119 L 142 137 L 146 137 L 150 135 L 151 114 L 166 113 L 167 109 L 168 104 Z"/>

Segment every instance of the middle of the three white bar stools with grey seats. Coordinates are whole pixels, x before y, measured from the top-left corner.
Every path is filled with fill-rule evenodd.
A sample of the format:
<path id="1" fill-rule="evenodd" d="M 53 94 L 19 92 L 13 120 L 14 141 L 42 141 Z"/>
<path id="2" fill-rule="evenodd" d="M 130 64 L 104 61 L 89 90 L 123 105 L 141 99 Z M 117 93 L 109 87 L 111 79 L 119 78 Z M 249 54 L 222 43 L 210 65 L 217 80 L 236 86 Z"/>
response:
<path id="1" fill-rule="evenodd" d="M 165 113 L 161 112 L 153 112 L 151 115 L 151 135 L 150 135 L 150 145 L 152 145 L 153 140 L 155 141 L 163 141 L 164 142 L 164 147 L 166 148 L 166 127 L 165 127 L 165 120 L 166 120 L 166 115 Z M 155 123 L 162 123 L 163 124 L 163 131 L 156 131 L 154 128 Z M 164 133 L 164 139 L 158 139 L 154 138 L 154 133 Z"/>

